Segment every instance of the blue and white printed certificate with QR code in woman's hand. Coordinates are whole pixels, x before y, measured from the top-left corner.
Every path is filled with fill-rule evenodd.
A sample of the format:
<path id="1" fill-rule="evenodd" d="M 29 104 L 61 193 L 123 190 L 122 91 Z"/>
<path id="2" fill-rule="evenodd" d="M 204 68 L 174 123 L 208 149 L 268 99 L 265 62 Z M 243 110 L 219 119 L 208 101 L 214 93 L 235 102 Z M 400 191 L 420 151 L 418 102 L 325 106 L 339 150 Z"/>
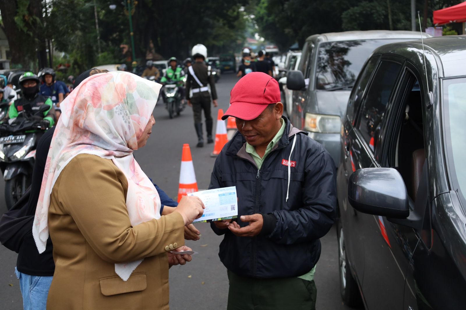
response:
<path id="1" fill-rule="evenodd" d="M 199 197 L 206 206 L 204 214 L 193 223 L 221 221 L 238 217 L 236 186 L 208 189 L 188 195 Z"/>

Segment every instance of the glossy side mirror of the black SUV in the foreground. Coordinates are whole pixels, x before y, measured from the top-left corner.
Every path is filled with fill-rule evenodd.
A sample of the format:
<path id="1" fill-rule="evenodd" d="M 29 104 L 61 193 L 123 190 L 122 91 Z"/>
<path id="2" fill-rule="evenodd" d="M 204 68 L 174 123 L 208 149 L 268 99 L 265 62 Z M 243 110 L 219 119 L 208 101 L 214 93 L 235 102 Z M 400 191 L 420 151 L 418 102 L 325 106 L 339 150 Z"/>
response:
<path id="1" fill-rule="evenodd" d="M 348 200 L 354 209 L 367 214 L 395 219 L 410 215 L 406 186 L 394 168 L 356 170 L 349 177 Z"/>

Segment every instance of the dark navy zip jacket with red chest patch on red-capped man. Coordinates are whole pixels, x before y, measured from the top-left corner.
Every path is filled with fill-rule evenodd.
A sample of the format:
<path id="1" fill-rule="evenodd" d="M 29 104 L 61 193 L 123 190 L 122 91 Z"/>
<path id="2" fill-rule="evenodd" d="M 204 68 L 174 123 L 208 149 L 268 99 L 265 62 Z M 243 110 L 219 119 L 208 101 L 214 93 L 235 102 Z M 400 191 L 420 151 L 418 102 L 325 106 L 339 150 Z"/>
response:
<path id="1" fill-rule="evenodd" d="M 260 235 L 253 238 L 237 237 L 211 223 L 217 235 L 224 235 L 220 260 L 240 276 L 304 275 L 319 260 L 319 238 L 335 221 L 336 171 L 332 158 L 322 145 L 283 119 L 285 132 L 260 170 L 238 132 L 222 149 L 212 171 L 209 189 L 236 186 L 238 217 L 255 213 L 264 216 Z M 287 202 L 287 161 L 294 139 Z M 241 227 L 247 225 L 239 218 L 236 221 Z"/>

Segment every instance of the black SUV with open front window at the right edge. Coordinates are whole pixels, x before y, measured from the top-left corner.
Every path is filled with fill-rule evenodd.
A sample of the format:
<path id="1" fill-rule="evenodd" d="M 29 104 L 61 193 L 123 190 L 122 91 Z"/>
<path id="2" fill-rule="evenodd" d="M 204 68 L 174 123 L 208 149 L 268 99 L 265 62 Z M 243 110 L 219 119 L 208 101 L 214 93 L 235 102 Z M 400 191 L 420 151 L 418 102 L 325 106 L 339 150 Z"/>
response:
<path id="1" fill-rule="evenodd" d="M 466 36 L 377 48 L 341 138 L 343 302 L 466 309 Z"/>

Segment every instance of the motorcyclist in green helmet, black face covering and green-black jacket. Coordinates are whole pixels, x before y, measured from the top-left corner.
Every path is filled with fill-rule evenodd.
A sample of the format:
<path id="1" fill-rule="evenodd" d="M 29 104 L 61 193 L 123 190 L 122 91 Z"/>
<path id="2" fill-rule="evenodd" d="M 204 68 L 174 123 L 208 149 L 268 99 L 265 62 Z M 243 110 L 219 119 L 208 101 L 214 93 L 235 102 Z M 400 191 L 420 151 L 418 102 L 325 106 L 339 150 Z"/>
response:
<path id="1" fill-rule="evenodd" d="M 40 80 L 32 72 L 25 72 L 20 76 L 19 84 L 23 96 L 14 101 L 8 109 L 7 119 L 13 120 L 16 117 L 22 116 L 24 113 L 33 115 L 42 105 L 48 105 L 47 111 L 44 112 L 44 117 L 40 121 L 42 129 L 48 129 L 55 125 L 55 109 L 50 98 L 39 93 Z"/>

